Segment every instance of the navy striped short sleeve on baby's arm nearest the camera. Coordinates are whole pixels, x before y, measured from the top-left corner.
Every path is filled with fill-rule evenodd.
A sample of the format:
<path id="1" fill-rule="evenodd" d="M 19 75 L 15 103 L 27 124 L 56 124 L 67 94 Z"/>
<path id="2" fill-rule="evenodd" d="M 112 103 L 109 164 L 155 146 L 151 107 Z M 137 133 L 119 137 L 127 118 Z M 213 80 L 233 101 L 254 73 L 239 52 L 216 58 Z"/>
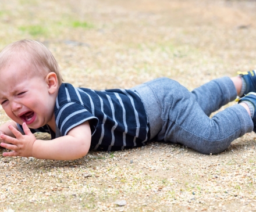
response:
<path id="1" fill-rule="evenodd" d="M 84 106 L 76 102 L 66 102 L 55 109 L 56 126 L 61 131 L 61 136 L 67 135 L 72 128 L 89 121 L 91 135 L 98 125 L 98 118 L 93 116 Z"/>

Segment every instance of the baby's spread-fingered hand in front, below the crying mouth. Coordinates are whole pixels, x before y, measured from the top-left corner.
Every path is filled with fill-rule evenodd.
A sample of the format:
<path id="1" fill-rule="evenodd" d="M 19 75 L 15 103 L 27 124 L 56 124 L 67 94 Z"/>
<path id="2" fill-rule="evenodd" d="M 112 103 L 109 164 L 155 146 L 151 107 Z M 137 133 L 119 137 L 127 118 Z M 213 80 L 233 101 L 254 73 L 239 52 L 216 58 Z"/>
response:
<path id="1" fill-rule="evenodd" d="M 12 152 L 5 152 L 3 156 L 22 156 L 22 157 L 32 157 L 33 144 L 36 140 L 35 136 L 29 130 L 26 123 L 22 124 L 25 135 L 22 135 L 17 131 L 12 125 L 9 125 L 8 128 L 12 131 L 13 135 L 16 138 L 12 138 L 8 135 L 2 134 L 1 139 L 10 143 L 1 143 L 1 146 L 6 149 L 12 150 Z"/>

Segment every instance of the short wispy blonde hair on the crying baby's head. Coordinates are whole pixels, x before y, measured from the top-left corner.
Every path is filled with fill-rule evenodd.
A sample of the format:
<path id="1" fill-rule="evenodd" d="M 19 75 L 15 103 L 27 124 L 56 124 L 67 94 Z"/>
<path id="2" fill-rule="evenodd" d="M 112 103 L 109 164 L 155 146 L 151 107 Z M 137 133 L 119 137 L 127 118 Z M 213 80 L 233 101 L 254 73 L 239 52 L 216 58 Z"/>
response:
<path id="1" fill-rule="evenodd" d="M 0 53 L 0 70 L 13 59 L 26 59 L 35 67 L 41 67 L 45 73 L 54 72 L 58 78 L 58 84 L 61 86 L 63 80 L 58 63 L 49 49 L 41 42 L 23 39 L 6 46 Z"/>

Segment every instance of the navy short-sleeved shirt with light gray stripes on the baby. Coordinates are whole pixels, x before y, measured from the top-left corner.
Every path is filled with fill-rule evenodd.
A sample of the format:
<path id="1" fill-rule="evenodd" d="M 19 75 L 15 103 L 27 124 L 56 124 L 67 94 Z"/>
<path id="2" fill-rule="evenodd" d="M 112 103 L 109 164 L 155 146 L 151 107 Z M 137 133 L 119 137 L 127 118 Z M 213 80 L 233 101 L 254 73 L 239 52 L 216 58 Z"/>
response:
<path id="1" fill-rule="evenodd" d="M 48 132 L 54 139 L 89 121 L 91 149 L 104 151 L 142 146 L 150 139 L 143 102 L 136 92 L 130 90 L 94 91 L 62 83 L 54 114 L 56 134 L 48 125 L 31 132 Z M 21 125 L 18 128 L 23 131 Z"/>

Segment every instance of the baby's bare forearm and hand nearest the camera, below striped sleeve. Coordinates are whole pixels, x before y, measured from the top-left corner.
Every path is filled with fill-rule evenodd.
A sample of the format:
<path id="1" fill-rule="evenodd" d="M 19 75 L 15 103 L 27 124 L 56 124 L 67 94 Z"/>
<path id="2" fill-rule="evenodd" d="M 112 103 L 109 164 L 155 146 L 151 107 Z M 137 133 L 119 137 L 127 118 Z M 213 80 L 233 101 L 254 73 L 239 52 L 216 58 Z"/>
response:
<path id="1" fill-rule="evenodd" d="M 1 135 L 2 139 L 12 143 L 1 143 L 1 146 L 13 150 L 12 152 L 3 153 L 3 156 L 74 160 L 85 156 L 90 149 L 91 129 L 88 121 L 72 128 L 67 135 L 50 141 L 37 140 L 25 123 L 22 127 L 26 135 L 22 135 L 12 125 L 9 125 L 9 129 L 16 138 Z"/>

